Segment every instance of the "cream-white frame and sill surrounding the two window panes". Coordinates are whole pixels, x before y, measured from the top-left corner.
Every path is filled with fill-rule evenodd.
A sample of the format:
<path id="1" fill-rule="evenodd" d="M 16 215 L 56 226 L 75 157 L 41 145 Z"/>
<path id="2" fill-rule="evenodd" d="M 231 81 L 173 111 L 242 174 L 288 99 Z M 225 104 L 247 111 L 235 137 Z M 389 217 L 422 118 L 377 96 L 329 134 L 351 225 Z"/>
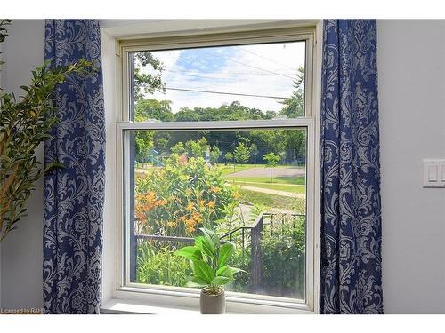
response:
<path id="1" fill-rule="evenodd" d="M 271 42 L 306 42 L 305 63 L 305 111 L 304 117 L 286 120 L 260 121 L 227 121 L 227 122 L 131 122 L 128 53 L 137 51 L 173 50 L 184 47 L 216 46 L 230 44 L 253 44 Z M 318 209 L 319 194 L 315 191 L 318 185 L 318 134 L 317 113 L 314 112 L 319 102 L 314 98 L 318 89 L 314 84 L 314 67 L 316 61 L 316 29 L 315 25 L 301 27 L 299 24 L 286 28 L 249 29 L 224 33 L 189 33 L 184 36 L 154 36 L 143 39 L 125 39 L 117 44 L 117 272 L 116 289 L 113 298 L 134 300 L 150 305 L 153 309 L 176 308 L 178 310 L 198 310 L 199 290 L 181 289 L 165 286 L 144 285 L 129 281 L 125 276 L 128 272 L 128 224 L 125 224 L 125 131 L 129 130 L 238 130 L 242 129 L 273 129 L 273 128 L 305 128 L 307 131 L 306 155 L 306 295 L 305 303 L 298 300 L 286 301 L 281 297 L 265 297 L 254 294 L 240 294 L 227 292 L 227 311 L 229 313 L 316 313 L 318 308 L 319 289 L 319 235 L 320 218 L 315 212 Z M 127 157 L 127 156 L 126 156 Z M 127 199 L 127 198 L 126 198 Z M 126 258 L 125 258 L 126 257 Z M 153 307 L 154 306 L 154 307 Z M 157 312 L 157 310 L 153 310 Z"/>

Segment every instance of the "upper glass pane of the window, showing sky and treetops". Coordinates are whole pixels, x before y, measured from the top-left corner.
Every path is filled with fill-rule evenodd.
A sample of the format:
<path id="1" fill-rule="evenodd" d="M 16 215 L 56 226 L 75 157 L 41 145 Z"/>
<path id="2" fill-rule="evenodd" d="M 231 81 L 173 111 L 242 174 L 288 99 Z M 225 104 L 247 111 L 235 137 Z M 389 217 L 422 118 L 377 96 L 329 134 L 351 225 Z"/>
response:
<path id="1" fill-rule="evenodd" d="M 129 58 L 136 122 L 305 115 L 305 42 L 132 52 Z"/>

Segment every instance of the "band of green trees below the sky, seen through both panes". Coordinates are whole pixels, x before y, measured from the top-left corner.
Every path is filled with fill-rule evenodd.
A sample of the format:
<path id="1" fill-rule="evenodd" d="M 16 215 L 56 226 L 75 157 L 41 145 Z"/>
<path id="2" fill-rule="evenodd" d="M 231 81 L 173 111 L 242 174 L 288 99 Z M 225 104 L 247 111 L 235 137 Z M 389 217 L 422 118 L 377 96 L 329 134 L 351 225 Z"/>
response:
<path id="1" fill-rule="evenodd" d="M 147 99 L 155 91 L 164 91 L 162 73 L 165 69 L 162 61 L 150 52 L 134 53 L 135 57 L 135 106 L 136 122 L 158 120 L 161 122 L 191 121 L 243 121 L 265 120 L 277 116 L 295 118 L 304 115 L 304 68 L 298 68 L 295 74 L 292 95 L 281 102 L 279 112 L 262 111 L 247 107 L 239 101 L 224 103 L 221 107 L 182 107 L 177 113 L 172 111 L 172 102 L 166 99 Z M 202 141 L 206 139 L 206 143 Z M 192 143 L 195 141 L 196 143 Z M 200 142 L 199 142 L 200 141 Z M 244 154 L 242 161 L 237 160 L 235 149 Z M 206 147 L 212 147 L 212 163 L 228 162 L 226 153 L 233 154 L 239 163 L 255 163 L 263 160 L 267 153 L 283 157 L 287 163 L 304 162 L 305 132 L 292 130 L 249 130 L 249 131 L 138 131 L 135 138 L 136 159 L 143 161 L 150 155 L 151 149 L 162 153 L 188 153 L 189 155 L 206 155 Z M 241 155 L 238 155 L 241 158 Z M 247 158 L 246 158 L 247 156 Z"/>

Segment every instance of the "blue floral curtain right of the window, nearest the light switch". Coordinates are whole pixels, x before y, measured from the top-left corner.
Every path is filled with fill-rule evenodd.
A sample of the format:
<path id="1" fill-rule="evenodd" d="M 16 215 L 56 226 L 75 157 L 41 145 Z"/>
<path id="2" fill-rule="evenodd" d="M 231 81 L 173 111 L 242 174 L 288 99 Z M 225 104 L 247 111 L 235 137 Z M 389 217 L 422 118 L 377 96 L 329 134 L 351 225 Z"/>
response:
<path id="1" fill-rule="evenodd" d="M 383 313 L 376 20 L 325 20 L 320 313 Z"/>

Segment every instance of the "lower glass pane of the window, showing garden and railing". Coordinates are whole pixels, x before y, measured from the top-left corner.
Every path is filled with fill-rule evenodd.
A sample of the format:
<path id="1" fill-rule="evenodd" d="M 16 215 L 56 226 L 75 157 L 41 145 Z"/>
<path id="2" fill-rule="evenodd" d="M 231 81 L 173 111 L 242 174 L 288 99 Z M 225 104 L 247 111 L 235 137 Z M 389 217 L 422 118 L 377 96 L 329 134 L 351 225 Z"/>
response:
<path id="1" fill-rule="evenodd" d="M 183 288 L 200 227 L 236 246 L 224 289 L 304 300 L 306 130 L 127 131 L 131 282 Z"/>

